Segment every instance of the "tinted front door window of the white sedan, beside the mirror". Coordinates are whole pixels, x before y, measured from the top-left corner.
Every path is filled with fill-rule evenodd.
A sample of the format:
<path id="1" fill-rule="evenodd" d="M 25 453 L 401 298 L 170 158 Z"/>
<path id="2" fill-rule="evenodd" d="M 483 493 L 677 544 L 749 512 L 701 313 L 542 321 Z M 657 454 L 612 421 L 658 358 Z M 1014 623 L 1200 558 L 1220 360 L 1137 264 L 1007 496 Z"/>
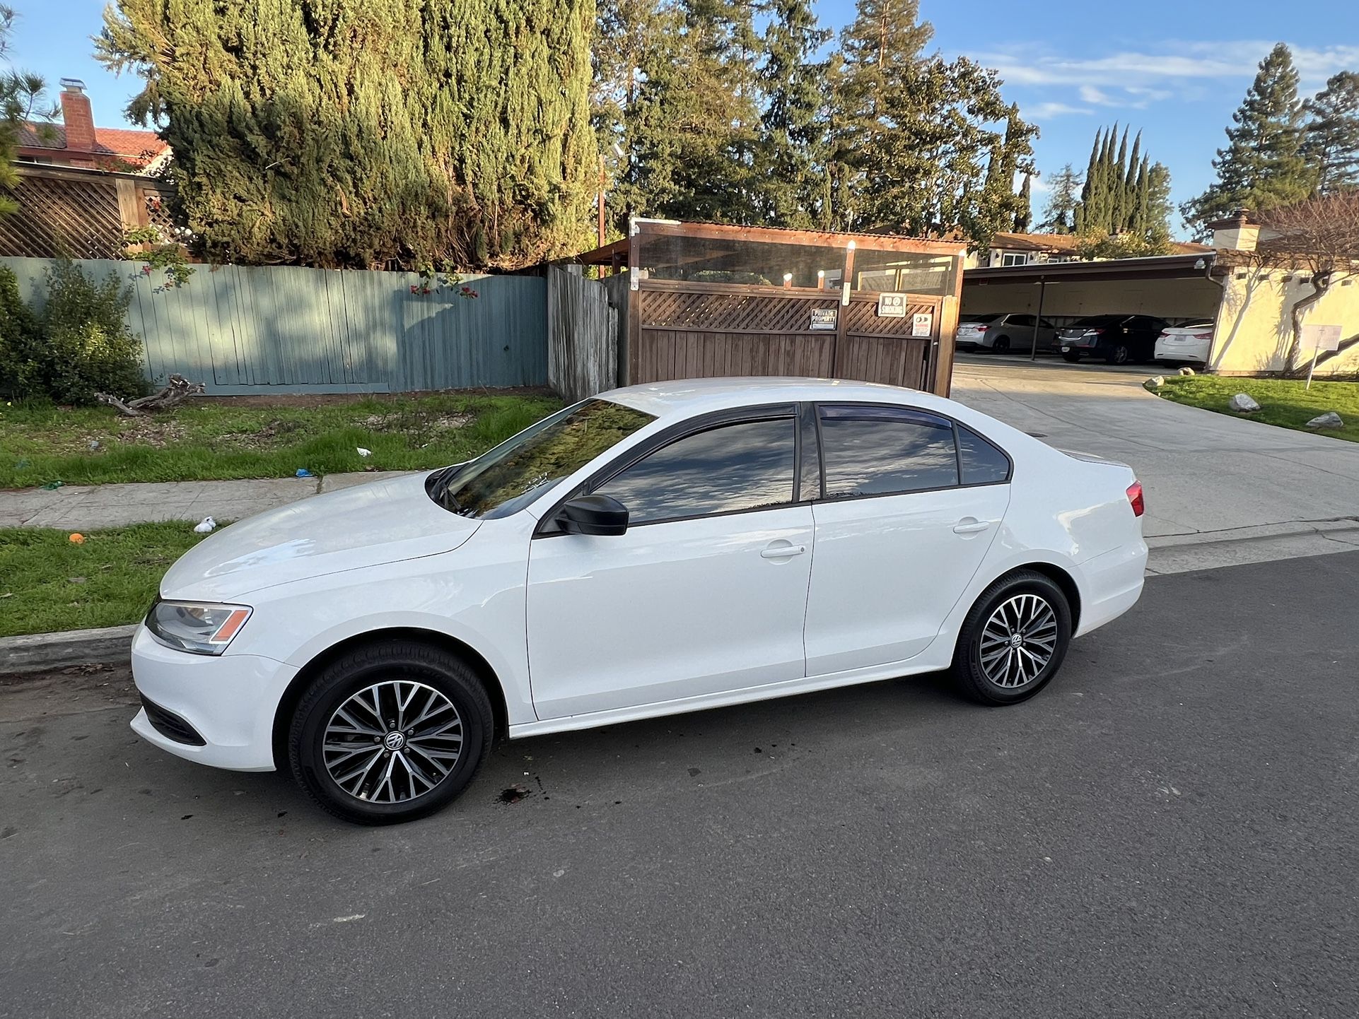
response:
<path id="1" fill-rule="evenodd" d="M 595 492 L 628 507 L 629 523 L 705 516 L 792 501 L 796 423 L 743 421 L 665 446 Z"/>

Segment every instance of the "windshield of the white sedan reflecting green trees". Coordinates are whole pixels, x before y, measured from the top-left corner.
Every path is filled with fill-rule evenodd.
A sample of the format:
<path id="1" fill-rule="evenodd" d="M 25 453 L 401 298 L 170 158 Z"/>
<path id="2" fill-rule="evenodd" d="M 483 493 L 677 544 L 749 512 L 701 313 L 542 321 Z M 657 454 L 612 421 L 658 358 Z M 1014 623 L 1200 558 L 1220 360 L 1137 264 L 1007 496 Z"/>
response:
<path id="1" fill-rule="evenodd" d="M 559 410 L 466 463 L 436 470 L 429 497 L 462 516 L 508 516 L 601 452 L 655 421 L 607 399 Z"/>

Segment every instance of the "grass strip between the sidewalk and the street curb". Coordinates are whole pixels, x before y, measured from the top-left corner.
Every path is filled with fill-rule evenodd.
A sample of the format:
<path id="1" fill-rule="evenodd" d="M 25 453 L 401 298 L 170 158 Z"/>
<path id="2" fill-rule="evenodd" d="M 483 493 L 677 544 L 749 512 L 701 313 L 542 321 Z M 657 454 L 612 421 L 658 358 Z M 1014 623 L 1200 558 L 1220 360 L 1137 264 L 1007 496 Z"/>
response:
<path id="1" fill-rule="evenodd" d="M 83 545 L 69 531 L 0 529 L 0 637 L 137 622 L 204 537 L 193 520 L 88 531 Z"/>

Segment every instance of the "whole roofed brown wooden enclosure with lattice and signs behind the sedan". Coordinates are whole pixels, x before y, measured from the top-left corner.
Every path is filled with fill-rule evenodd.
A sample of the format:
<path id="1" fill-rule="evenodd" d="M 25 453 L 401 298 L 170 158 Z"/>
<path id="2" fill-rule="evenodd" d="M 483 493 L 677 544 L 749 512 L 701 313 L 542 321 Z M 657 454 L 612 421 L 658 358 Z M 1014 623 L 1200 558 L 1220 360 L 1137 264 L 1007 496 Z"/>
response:
<path id="1" fill-rule="evenodd" d="M 962 255 L 951 240 L 635 219 L 576 261 L 614 273 L 620 385 L 795 375 L 947 395 Z"/>

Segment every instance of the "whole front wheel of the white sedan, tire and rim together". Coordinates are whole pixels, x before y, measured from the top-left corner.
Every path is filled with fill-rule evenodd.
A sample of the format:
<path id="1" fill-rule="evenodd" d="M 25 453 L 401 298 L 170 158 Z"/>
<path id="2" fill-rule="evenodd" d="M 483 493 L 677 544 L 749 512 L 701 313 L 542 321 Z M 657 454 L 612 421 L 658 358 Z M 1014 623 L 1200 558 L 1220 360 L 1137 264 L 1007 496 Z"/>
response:
<path id="1" fill-rule="evenodd" d="M 322 808 L 391 825 L 451 803 L 493 734 L 491 700 L 465 662 L 391 640 L 341 655 L 317 675 L 292 717 L 288 762 Z"/>

